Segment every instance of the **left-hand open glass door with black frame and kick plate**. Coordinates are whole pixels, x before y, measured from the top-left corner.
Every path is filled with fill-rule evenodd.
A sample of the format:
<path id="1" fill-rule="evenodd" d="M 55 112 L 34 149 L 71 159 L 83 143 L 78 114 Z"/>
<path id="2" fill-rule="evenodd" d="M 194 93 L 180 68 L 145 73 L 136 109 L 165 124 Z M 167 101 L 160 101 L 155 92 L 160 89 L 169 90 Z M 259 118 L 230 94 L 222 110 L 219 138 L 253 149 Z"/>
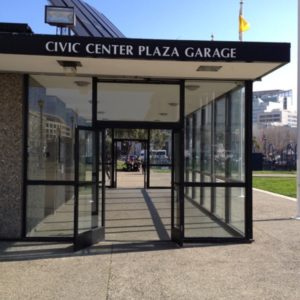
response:
<path id="1" fill-rule="evenodd" d="M 75 134 L 76 251 L 104 239 L 105 168 L 103 132 L 78 127 Z"/>

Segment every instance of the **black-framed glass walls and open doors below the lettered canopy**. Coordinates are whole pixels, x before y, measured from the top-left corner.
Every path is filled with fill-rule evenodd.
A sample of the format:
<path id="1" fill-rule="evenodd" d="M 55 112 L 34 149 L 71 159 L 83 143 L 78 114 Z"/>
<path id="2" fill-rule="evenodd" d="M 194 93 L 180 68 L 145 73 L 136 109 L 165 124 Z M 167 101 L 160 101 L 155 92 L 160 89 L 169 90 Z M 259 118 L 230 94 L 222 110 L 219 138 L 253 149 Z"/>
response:
<path id="1" fill-rule="evenodd" d="M 252 238 L 251 84 L 49 75 L 28 84 L 28 238 L 104 239 L 105 187 L 117 187 L 122 147 L 143 155 L 141 188 L 170 189 L 174 241 Z"/>

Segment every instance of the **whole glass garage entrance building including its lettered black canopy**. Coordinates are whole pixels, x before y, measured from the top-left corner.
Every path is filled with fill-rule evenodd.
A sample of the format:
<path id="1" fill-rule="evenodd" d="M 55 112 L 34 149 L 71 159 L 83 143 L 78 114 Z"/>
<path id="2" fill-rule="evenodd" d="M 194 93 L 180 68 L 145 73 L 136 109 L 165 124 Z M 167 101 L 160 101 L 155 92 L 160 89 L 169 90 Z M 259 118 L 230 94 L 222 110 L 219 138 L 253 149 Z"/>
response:
<path id="1" fill-rule="evenodd" d="M 0 42 L 0 71 L 23 83 L 23 115 L 12 118 L 24 141 L 13 164 L 23 170 L 12 196 L 19 210 L 7 205 L 0 221 L 15 237 L 78 249 L 111 234 L 117 202 L 142 198 L 136 214 L 158 221 L 160 239 L 252 240 L 252 84 L 289 62 L 289 44 L 34 34 Z M 13 94 L 10 74 L 1 76 Z M 139 160 L 121 167 L 139 174 L 139 193 L 115 201 L 123 156 Z M 126 209 L 117 210 L 123 218 Z M 21 225 L 8 217 L 17 212 Z"/>

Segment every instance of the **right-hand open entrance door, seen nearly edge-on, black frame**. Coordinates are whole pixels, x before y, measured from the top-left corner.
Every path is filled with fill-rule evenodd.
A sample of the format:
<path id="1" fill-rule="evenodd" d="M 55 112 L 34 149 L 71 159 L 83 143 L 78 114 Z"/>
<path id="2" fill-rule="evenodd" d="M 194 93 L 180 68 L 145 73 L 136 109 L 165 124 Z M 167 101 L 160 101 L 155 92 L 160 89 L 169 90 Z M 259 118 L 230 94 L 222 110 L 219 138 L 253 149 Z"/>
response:
<path id="1" fill-rule="evenodd" d="M 182 246 L 184 236 L 184 192 L 183 192 L 183 132 L 173 132 L 173 184 L 171 205 L 171 239 Z"/>

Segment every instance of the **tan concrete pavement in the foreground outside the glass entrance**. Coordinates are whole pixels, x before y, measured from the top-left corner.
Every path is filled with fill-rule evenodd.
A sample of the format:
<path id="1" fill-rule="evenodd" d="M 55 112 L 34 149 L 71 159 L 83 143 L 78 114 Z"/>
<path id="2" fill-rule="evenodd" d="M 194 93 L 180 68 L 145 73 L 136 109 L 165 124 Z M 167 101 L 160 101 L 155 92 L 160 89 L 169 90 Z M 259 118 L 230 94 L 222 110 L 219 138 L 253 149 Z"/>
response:
<path id="1" fill-rule="evenodd" d="M 252 244 L 1 243 L 1 299 L 300 299 L 296 202 L 254 191 Z"/>

